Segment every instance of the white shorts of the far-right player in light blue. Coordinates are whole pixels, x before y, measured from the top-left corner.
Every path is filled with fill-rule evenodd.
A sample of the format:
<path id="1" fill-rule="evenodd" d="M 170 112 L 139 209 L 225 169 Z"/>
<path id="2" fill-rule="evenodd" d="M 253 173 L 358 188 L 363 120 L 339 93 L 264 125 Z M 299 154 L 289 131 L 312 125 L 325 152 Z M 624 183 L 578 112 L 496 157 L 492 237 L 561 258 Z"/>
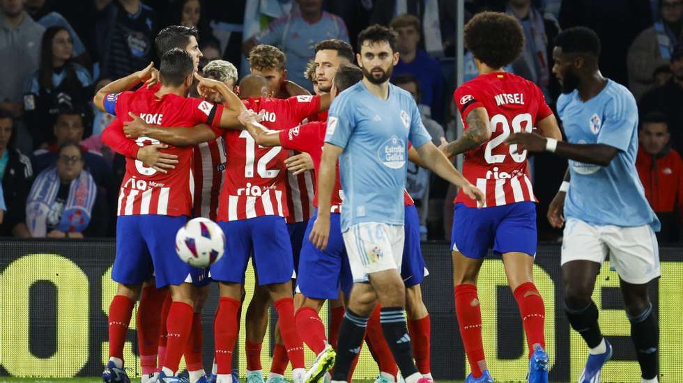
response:
<path id="1" fill-rule="evenodd" d="M 594 226 L 579 219 L 567 220 L 561 265 L 572 260 L 602 264 L 608 254 L 611 267 L 627 283 L 641 285 L 661 275 L 659 245 L 649 225 Z"/>

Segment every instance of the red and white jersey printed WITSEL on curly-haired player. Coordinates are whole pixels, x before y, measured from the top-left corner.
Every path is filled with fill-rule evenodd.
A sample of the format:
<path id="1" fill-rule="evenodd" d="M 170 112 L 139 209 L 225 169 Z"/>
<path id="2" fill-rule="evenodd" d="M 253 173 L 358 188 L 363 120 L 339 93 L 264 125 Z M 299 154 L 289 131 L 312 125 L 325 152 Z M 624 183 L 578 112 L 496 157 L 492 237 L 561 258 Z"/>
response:
<path id="1" fill-rule="evenodd" d="M 455 104 L 467 130 L 467 116 L 485 108 L 491 120 L 491 138 L 465 153 L 463 175 L 486 196 L 484 207 L 534 201 L 527 168 L 527 152 L 505 139 L 511 133 L 532 132 L 537 121 L 553 114 L 536 84 L 508 72 L 479 75 L 456 89 Z M 472 198 L 459 192 L 454 203 L 475 207 Z"/>

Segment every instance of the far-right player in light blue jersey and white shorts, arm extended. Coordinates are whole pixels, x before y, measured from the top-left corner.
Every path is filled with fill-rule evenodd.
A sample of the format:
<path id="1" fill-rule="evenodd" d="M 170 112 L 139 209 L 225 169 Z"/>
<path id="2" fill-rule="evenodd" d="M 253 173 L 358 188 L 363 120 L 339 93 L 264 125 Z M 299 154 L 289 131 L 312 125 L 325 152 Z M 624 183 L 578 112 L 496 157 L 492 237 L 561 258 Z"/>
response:
<path id="1" fill-rule="evenodd" d="M 661 274 L 654 236 L 660 224 L 635 166 L 636 100 L 627 88 L 601 75 L 599 56 L 600 40 L 594 31 L 585 27 L 562 31 L 553 49 L 553 73 L 562 85 L 558 114 L 567 142 L 520 133 L 507 141 L 516 144 L 518 152 L 545 150 L 569 159 L 565 182 L 548 208 L 548 220 L 560 228 L 566 219 L 561 258 L 565 312 L 590 349 L 579 382 L 599 382 L 600 370 L 612 355 L 591 299 L 601 263 L 609 254 L 631 321 L 640 381 L 652 383 L 657 382 L 659 370 L 659 328 L 647 284 Z"/>

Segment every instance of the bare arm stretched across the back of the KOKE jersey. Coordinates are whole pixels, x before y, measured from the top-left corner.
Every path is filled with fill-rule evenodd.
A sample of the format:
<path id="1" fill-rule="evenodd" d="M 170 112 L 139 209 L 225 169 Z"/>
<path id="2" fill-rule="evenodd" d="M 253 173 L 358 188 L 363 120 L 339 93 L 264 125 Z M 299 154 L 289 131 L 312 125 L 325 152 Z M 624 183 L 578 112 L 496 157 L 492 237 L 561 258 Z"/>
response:
<path id="1" fill-rule="evenodd" d="M 218 136 L 205 124 L 199 124 L 195 127 L 160 127 L 145 123 L 139 116 L 130 112 L 128 116 L 132 120 L 123 123 L 123 132 L 129 139 L 146 136 L 175 146 L 191 146 L 200 142 L 211 141 Z"/>

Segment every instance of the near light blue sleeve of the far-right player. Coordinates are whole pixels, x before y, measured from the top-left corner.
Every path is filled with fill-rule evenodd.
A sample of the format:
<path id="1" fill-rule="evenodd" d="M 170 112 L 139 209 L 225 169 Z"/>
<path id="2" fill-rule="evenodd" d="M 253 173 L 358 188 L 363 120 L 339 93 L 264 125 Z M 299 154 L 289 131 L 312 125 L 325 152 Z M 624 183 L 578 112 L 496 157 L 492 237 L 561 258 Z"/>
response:
<path id="1" fill-rule="evenodd" d="M 630 102 L 632 101 L 632 102 Z M 638 107 L 633 97 L 613 97 L 605 108 L 597 143 L 613 146 L 622 152 L 629 149 L 634 130 L 638 129 Z"/>

